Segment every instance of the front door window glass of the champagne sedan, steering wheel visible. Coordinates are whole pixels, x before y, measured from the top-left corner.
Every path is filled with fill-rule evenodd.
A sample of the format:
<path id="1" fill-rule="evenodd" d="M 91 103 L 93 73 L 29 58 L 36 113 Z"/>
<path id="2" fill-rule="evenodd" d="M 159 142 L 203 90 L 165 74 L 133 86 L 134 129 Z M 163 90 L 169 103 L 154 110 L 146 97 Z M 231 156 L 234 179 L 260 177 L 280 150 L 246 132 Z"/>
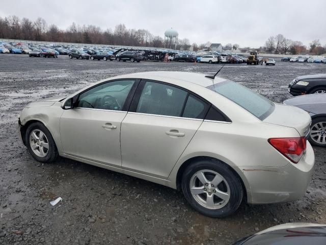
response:
<path id="1" fill-rule="evenodd" d="M 91 88 L 79 95 L 76 107 L 121 111 L 134 82 L 119 80 Z"/>

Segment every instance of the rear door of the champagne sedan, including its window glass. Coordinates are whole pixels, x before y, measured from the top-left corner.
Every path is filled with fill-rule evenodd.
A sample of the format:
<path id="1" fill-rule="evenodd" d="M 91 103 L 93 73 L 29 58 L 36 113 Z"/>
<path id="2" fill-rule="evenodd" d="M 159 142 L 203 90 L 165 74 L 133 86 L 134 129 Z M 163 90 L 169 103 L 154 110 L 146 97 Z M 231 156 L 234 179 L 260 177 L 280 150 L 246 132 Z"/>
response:
<path id="1" fill-rule="evenodd" d="M 122 168 L 167 179 L 207 107 L 186 90 L 142 80 L 121 125 Z"/>

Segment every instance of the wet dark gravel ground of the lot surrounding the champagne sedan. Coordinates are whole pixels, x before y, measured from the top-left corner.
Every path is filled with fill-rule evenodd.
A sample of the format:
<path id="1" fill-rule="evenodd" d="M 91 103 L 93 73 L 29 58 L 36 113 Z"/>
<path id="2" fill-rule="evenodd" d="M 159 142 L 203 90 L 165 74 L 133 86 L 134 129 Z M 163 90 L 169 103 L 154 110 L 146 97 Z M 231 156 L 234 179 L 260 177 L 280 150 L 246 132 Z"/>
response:
<path id="1" fill-rule="evenodd" d="M 119 74 L 213 74 L 220 67 L 0 55 L 0 244 L 230 244 L 277 224 L 325 224 L 326 149 L 314 148 L 315 172 L 301 200 L 243 203 L 234 215 L 214 219 L 194 211 L 181 192 L 168 187 L 63 158 L 40 164 L 18 139 L 19 113 L 32 101 L 69 94 Z M 282 102 L 291 97 L 289 81 L 317 73 L 326 73 L 326 65 L 277 60 L 276 66 L 226 65 L 219 76 Z M 57 197 L 63 201 L 52 207 L 49 202 Z"/>

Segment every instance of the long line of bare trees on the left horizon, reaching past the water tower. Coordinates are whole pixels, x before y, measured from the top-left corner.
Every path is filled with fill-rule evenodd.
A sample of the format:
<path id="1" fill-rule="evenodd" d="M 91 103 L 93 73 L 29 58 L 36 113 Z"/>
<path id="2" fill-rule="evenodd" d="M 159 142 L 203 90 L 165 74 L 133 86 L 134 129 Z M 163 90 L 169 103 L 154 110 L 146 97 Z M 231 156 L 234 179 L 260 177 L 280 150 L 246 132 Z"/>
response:
<path id="1" fill-rule="evenodd" d="M 128 46 L 169 46 L 169 40 L 165 43 L 162 37 L 155 36 L 148 30 L 127 29 L 124 24 L 118 24 L 114 30 L 110 28 L 101 30 L 100 27 L 92 24 L 80 26 L 73 22 L 66 30 L 62 30 L 55 24 L 47 24 L 41 17 L 32 21 L 28 18 L 20 19 L 15 15 L 0 17 L 0 38 Z M 205 46 L 196 43 L 194 45 L 195 48 Z M 178 40 L 175 48 L 179 49 L 181 46 L 190 46 L 189 40 L 187 38 Z"/>

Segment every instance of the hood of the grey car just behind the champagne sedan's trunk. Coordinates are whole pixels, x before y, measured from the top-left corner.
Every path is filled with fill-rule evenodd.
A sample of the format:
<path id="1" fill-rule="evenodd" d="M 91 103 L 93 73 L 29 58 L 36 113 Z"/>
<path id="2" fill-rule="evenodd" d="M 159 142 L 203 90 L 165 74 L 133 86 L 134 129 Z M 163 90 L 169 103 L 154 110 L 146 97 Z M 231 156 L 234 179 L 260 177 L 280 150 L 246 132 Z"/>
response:
<path id="1" fill-rule="evenodd" d="M 283 102 L 314 114 L 326 114 L 326 94 L 307 94 L 295 96 Z"/>

